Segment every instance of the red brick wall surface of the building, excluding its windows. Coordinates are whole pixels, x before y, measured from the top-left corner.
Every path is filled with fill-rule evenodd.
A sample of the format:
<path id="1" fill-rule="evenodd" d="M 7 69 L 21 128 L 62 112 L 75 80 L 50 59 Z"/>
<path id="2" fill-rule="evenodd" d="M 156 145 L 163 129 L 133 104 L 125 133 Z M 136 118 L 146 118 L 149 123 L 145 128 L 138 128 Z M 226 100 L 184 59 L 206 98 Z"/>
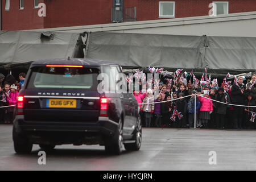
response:
<path id="1" fill-rule="evenodd" d="M 19 0 L 10 0 L 9 11 L 5 10 L 5 0 L 2 0 L 2 29 L 29 30 L 111 22 L 113 0 L 39 0 L 39 2 L 46 3 L 46 17 L 38 16 L 38 9 L 34 9 L 33 0 L 24 0 L 24 10 L 19 10 Z M 175 18 L 208 15 L 210 10 L 208 6 L 211 2 L 176 0 Z M 228 2 L 229 13 L 256 11 L 256 0 Z M 159 0 L 124 0 L 124 9 L 126 7 L 137 7 L 138 21 L 159 19 Z"/>

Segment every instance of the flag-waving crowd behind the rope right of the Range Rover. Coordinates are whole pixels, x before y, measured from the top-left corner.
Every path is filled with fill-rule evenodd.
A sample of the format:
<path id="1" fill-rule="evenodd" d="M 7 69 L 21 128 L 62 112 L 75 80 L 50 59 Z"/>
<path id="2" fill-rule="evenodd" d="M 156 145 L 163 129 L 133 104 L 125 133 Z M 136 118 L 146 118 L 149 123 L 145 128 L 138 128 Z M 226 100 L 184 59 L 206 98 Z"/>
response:
<path id="1" fill-rule="evenodd" d="M 195 86 L 191 81 L 187 84 L 161 81 L 152 89 L 146 90 L 147 85 L 142 85 L 134 96 L 141 104 L 141 118 L 146 127 L 194 127 L 196 110 L 196 127 L 199 128 L 256 129 L 251 117 L 256 113 L 256 107 L 251 107 L 256 106 L 256 75 L 246 84 L 243 81 L 244 77 L 238 77 L 233 85 L 220 87 L 214 83 Z M 156 90 L 159 94 L 154 94 Z"/>

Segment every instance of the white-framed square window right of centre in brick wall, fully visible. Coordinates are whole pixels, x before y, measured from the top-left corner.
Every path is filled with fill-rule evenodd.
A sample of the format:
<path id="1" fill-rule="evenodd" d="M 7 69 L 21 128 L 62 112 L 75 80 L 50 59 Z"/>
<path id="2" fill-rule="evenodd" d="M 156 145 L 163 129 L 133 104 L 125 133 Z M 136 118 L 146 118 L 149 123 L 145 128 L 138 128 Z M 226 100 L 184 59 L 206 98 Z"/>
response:
<path id="1" fill-rule="evenodd" d="M 159 1 L 159 18 L 174 18 L 174 17 L 175 17 L 175 2 Z"/>

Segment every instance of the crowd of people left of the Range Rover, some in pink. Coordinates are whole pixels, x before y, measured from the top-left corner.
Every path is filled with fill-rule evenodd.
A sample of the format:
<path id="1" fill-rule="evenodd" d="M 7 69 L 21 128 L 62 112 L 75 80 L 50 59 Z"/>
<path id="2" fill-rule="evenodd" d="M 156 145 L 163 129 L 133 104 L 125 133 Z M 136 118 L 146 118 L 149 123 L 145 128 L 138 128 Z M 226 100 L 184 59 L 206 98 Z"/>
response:
<path id="1" fill-rule="evenodd" d="M 26 73 L 19 74 L 19 81 L 12 75 L 4 76 L 0 73 L 0 123 L 13 122 L 14 107 L 25 78 Z"/>

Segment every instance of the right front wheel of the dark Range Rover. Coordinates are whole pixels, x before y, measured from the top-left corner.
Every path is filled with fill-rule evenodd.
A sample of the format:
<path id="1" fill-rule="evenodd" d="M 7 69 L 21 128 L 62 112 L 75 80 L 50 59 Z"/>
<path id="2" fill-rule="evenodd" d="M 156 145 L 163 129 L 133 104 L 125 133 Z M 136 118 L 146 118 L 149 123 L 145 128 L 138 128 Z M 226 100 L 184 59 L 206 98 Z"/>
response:
<path id="1" fill-rule="evenodd" d="M 125 150 L 127 151 L 138 151 L 141 148 L 141 142 L 142 142 L 142 122 L 141 117 L 139 116 L 137 118 L 137 126 L 134 133 L 133 139 L 135 140 L 134 143 L 125 143 Z"/>

